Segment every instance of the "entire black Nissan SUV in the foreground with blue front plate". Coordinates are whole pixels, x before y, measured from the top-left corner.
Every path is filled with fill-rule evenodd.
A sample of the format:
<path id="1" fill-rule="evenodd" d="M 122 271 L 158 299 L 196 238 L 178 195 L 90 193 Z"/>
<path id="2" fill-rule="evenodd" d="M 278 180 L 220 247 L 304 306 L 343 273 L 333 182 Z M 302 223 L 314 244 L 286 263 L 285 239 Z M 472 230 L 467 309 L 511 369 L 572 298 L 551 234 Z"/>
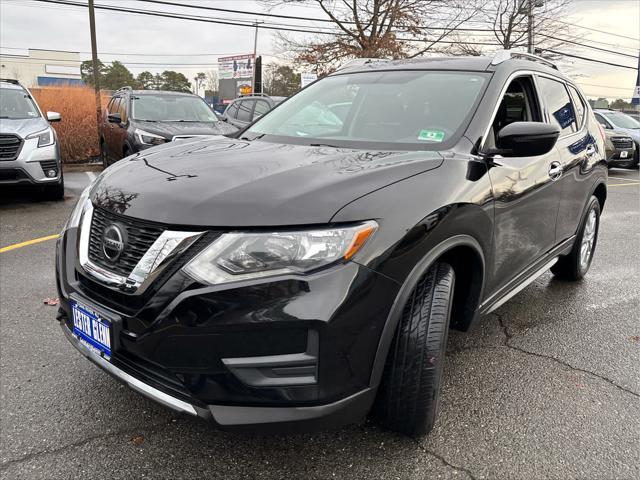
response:
<path id="1" fill-rule="evenodd" d="M 220 428 L 371 412 L 424 434 L 448 329 L 549 269 L 580 280 L 606 180 L 593 112 L 545 60 L 356 62 L 236 138 L 106 169 L 58 240 L 58 319 L 89 360 Z"/>

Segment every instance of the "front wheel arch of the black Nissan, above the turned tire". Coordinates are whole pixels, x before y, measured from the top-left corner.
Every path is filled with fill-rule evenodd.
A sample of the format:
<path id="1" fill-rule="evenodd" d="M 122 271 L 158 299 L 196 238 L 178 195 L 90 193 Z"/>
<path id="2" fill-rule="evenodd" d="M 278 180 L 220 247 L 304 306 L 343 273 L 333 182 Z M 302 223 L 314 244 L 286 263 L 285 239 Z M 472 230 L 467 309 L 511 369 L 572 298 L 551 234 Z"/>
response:
<path id="1" fill-rule="evenodd" d="M 466 234 L 454 235 L 429 250 L 414 266 L 400 287 L 378 342 L 370 377 L 372 387 L 377 387 L 382 379 L 384 364 L 406 300 L 420 278 L 437 261 L 450 263 L 456 273 L 451 326 L 466 330 L 475 318 L 484 288 L 485 256 L 480 243 L 475 238 Z M 473 265 L 471 269 L 468 262 Z M 472 300 L 462 301 L 468 298 Z"/>

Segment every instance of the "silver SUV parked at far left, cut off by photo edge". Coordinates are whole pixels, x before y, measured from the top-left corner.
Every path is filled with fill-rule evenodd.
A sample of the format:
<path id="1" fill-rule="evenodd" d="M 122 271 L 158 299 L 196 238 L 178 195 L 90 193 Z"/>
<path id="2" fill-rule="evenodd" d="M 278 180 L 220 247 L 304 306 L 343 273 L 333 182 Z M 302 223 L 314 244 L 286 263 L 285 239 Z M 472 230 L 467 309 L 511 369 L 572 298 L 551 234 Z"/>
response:
<path id="1" fill-rule="evenodd" d="M 37 185 L 48 198 L 64 196 L 60 147 L 31 93 L 17 80 L 0 79 L 0 185 Z"/>

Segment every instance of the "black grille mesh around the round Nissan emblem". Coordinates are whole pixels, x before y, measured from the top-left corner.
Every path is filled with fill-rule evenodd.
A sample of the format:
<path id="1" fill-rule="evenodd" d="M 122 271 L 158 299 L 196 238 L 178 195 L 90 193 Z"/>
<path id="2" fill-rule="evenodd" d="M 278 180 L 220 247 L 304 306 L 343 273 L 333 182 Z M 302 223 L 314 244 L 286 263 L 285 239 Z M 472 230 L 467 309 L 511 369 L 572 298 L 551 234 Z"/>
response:
<path id="1" fill-rule="evenodd" d="M 102 251 L 102 234 L 109 225 L 114 223 L 126 231 L 126 242 L 120 258 L 116 262 L 111 262 Z M 164 228 L 156 223 L 124 217 L 96 208 L 91 220 L 89 259 L 96 265 L 127 277 L 163 231 Z"/>

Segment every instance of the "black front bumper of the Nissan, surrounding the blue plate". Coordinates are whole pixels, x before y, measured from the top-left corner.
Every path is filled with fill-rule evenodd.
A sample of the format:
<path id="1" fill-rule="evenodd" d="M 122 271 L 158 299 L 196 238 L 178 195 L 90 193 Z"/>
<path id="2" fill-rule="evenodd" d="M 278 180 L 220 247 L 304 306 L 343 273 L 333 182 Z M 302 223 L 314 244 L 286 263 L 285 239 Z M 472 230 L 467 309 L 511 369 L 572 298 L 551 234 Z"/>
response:
<path id="1" fill-rule="evenodd" d="M 223 429 L 309 430 L 367 414 L 394 281 L 354 262 L 216 287 L 178 270 L 134 299 L 86 278 L 76 237 L 72 229 L 58 240 L 61 326 L 83 355 L 134 390 Z M 111 359 L 72 334 L 71 300 L 112 319 Z"/>

